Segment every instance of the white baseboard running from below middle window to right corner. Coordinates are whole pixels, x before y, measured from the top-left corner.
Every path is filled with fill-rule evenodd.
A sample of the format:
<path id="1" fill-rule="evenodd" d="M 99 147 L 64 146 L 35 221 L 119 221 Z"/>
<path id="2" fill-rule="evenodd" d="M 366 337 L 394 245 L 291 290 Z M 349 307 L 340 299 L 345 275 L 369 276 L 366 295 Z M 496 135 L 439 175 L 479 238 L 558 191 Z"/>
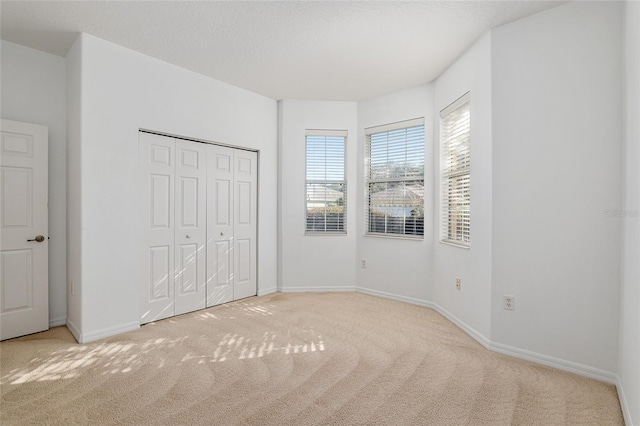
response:
<path id="1" fill-rule="evenodd" d="M 501 343 L 495 343 L 491 340 L 487 339 L 482 333 L 478 332 L 472 327 L 469 327 L 462 320 L 457 318 L 455 315 L 448 312 L 442 306 L 430 302 L 428 300 L 415 299 L 412 297 L 401 296 L 398 294 L 387 293 L 379 290 L 371 290 L 364 287 L 357 287 L 357 292 L 369 294 L 372 296 L 384 297 L 387 299 L 398 300 L 400 302 L 407 302 L 413 305 L 424 306 L 427 308 L 432 308 L 436 312 L 442 314 L 449 321 L 460 327 L 462 331 L 467 333 L 471 338 L 476 340 L 482 346 L 487 348 L 490 351 L 501 353 L 504 355 L 509 355 L 515 358 L 524 359 L 526 361 L 531 361 L 536 364 L 546 365 L 547 367 L 557 368 L 559 370 L 568 371 L 571 373 L 578 374 L 580 376 L 589 377 L 591 379 L 599 380 L 601 382 L 617 384 L 617 375 L 611 373 L 609 371 L 600 370 L 598 368 L 589 367 L 587 365 L 578 364 L 576 362 L 567 361 L 560 358 L 555 358 L 548 355 L 539 354 L 537 352 L 531 352 L 525 349 L 515 348 L 513 346 L 504 345 Z M 619 387 L 620 388 L 620 387 Z M 626 401 L 625 401 L 626 403 Z M 622 399 L 621 399 L 622 404 Z M 627 409 L 628 410 L 628 409 Z M 626 414 L 625 416 L 628 416 Z"/>

